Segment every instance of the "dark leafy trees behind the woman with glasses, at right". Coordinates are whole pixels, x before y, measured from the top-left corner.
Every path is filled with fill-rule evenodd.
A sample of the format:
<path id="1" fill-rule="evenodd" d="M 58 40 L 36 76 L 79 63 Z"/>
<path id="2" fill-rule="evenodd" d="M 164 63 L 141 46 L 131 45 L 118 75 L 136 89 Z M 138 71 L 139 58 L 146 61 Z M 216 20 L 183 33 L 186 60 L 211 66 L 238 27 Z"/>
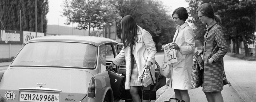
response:
<path id="1" fill-rule="evenodd" d="M 197 17 L 196 9 L 203 3 L 210 3 L 215 15 L 222 18 L 222 29 L 226 40 L 233 40 L 236 45 L 236 53 L 239 54 L 239 42 L 243 41 L 245 56 L 249 55 L 248 44 L 255 41 L 255 0 L 186 0 L 189 2 L 194 27 L 200 31 L 204 28 Z M 205 32 L 198 31 L 196 35 L 203 39 Z M 198 38 L 197 37 L 197 38 Z"/>

